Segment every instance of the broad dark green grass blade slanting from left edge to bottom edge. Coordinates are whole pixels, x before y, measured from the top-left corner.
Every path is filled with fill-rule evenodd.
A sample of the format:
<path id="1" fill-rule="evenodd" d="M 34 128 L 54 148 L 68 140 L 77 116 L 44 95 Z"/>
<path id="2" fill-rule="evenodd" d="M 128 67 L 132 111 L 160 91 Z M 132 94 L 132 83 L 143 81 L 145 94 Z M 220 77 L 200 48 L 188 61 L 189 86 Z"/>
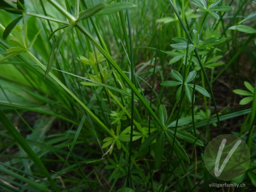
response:
<path id="1" fill-rule="evenodd" d="M 52 180 L 51 175 L 48 170 L 45 168 L 42 161 L 36 155 L 36 153 L 30 148 L 27 141 L 21 136 L 20 132 L 12 125 L 11 121 L 5 116 L 3 111 L 0 109 L 0 122 L 4 125 L 6 130 L 12 135 L 14 140 L 20 145 L 20 147 L 28 154 L 29 158 L 35 163 L 38 169 L 44 174 L 44 176 L 50 181 L 52 186 L 56 191 L 57 186 L 55 182 Z"/>

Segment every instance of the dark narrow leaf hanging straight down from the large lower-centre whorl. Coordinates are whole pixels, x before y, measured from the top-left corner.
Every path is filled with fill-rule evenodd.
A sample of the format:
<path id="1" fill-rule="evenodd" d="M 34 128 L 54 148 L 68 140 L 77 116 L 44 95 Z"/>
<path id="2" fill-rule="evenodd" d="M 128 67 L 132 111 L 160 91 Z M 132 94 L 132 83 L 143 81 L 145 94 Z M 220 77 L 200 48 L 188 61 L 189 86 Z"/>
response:
<path id="1" fill-rule="evenodd" d="M 155 148 L 155 167 L 159 169 L 164 155 L 164 132 L 160 132 Z"/>

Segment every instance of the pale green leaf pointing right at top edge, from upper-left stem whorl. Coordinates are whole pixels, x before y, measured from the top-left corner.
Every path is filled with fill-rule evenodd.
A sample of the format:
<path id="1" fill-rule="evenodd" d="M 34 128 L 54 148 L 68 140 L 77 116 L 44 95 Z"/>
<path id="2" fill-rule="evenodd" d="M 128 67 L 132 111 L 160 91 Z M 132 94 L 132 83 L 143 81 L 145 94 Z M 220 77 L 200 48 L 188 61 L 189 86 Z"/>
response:
<path id="1" fill-rule="evenodd" d="M 114 4 L 109 4 L 108 6 L 104 7 L 101 12 L 98 12 L 95 15 L 107 15 L 107 14 L 123 11 L 126 9 L 131 9 L 133 7 L 136 7 L 136 5 L 128 2 L 118 2 Z"/>

